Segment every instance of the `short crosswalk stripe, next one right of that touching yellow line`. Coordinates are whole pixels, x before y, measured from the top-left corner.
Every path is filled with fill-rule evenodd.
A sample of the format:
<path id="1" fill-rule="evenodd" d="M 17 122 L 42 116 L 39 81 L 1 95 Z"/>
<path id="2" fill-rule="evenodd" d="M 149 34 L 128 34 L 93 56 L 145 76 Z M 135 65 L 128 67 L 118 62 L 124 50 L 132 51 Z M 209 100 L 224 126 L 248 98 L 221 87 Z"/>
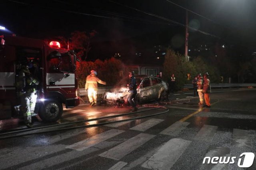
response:
<path id="1" fill-rule="evenodd" d="M 196 140 L 211 141 L 218 127 L 211 125 L 204 125 L 196 134 Z"/>

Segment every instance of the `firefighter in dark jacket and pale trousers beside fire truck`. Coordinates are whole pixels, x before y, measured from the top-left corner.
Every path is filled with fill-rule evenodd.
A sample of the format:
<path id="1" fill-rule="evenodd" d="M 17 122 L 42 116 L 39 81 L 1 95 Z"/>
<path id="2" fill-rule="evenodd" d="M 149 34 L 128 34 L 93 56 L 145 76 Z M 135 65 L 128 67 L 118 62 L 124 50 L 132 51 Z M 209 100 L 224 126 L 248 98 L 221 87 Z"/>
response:
<path id="1" fill-rule="evenodd" d="M 21 99 L 24 122 L 28 128 L 32 128 L 31 115 L 36 107 L 36 85 L 39 85 L 39 81 L 32 77 L 27 65 L 22 65 L 16 87 Z"/>

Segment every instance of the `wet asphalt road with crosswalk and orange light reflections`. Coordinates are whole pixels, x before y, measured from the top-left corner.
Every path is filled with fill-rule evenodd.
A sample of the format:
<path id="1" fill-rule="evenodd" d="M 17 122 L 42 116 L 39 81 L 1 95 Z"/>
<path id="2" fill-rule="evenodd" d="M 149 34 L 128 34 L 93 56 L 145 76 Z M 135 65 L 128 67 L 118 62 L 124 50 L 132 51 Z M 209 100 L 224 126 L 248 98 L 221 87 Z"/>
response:
<path id="1" fill-rule="evenodd" d="M 211 108 L 200 107 L 199 99 L 190 93 L 175 93 L 171 99 L 172 106 L 162 103 L 168 104 L 169 111 L 157 116 L 1 139 L 0 169 L 244 169 L 239 166 L 252 161 L 247 169 L 256 169 L 256 90 L 215 91 L 210 95 Z M 127 111 L 126 107 L 80 105 L 65 109 L 59 123 Z M 160 108 L 111 121 L 164 111 Z M 42 125 L 40 121 L 34 124 Z M 242 156 L 244 152 L 252 153 Z M 220 163 L 224 159 L 226 163 Z"/>

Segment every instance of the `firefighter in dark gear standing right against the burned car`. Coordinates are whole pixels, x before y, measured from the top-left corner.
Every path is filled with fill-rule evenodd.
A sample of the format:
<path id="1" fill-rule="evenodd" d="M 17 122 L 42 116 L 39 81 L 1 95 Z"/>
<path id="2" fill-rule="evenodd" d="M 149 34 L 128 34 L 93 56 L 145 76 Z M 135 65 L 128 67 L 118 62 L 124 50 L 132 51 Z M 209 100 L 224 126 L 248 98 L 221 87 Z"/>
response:
<path id="1" fill-rule="evenodd" d="M 130 83 L 127 85 L 130 91 L 130 95 L 128 96 L 128 102 L 133 107 L 133 109 L 131 109 L 130 111 L 136 112 L 138 111 L 138 108 L 136 107 L 137 85 L 136 85 L 136 78 L 134 77 L 134 71 L 129 72 L 129 78 L 130 78 Z"/>

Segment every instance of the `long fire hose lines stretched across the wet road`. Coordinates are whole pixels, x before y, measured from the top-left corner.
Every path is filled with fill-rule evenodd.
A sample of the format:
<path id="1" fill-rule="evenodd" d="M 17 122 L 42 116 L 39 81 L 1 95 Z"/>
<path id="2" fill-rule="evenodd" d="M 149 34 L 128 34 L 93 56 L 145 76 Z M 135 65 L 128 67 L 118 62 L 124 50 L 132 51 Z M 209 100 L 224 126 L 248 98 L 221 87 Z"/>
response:
<path id="1" fill-rule="evenodd" d="M 189 102 L 190 102 L 190 100 L 188 100 L 188 102 L 186 102 L 186 103 L 178 103 L 178 104 L 174 104 L 174 105 L 182 105 L 182 104 L 187 104 Z M 95 126 L 107 125 L 107 124 L 110 124 L 110 123 L 118 123 L 118 122 L 123 122 L 123 121 L 132 121 L 132 120 L 135 120 L 135 119 L 142 119 L 142 118 L 146 118 L 146 117 L 152 117 L 152 116 L 168 113 L 169 109 L 167 109 L 166 107 L 174 106 L 174 105 L 147 106 L 147 107 L 139 108 L 139 109 L 145 109 L 145 110 L 136 111 L 136 112 L 132 112 L 132 113 L 122 113 L 122 114 L 118 114 L 118 115 L 98 117 L 98 118 L 94 118 L 94 119 L 87 119 L 87 120 L 70 122 L 70 123 L 61 123 L 61 124 L 57 124 L 57 125 L 49 125 L 49 126 L 36 127 L 36 128 L 31 128 L 31 129 L 16 130 L 16 131 L 6 132 L 6 133 L 0 134 L 0 136 L 1 136 L 0 139 L 14 138 L 14 137 L 27 136 L 27 135 L 32 135 L 32 134 L 40 134 L 40 133 L 46 133 L 46 132 L 54 132 L 54 131 L 59 131 L 59 130 L 70 130 L 70 129 L 75 129 L 75 128 L 95 127 Z M 150 108 L 150 109 L 146 109 L 146 108 Z M 123 120 L 118 120 L 118 121 L 106 121 L 106 122 L 102 122 L 102 123 L 96 123 L 96 124 L 91 124 L 91 125 L 81 125 L 81 126 L 75 126 L 75 127 L 61 127 L 61 126 L 75 125 L 75 124 L 78 124 L 78 123 L 84 123 L 84 122 L 90 122 L 90 121 L 112 119 L 112 118 L 115 118 L 115 117 L 122 117 L 122 116 L 125 116 L 125 115 L 132 115 L 132 114 L 136 114 L 136 113 L 144 113 L 144 112 L 148 113 L 147 111 L 151 111 L 151 110 L 155 110 L 155 109 L 165 109 L 166 111 L 161 111 L 159 113 L 154 113 L 154 114 L 151 114 L 151 115 L 133 117 L 133 118 L 123 119 Z M 44 129 L 44 128 L 51 128 L 51 127 L 61 127 L 61 128 L 54 128 L 54 129 L 31 132 L 31 131 L 34 131 L 34 130 Z M 28 132 L 28 133 L 26 133 L 26 132 Z"/>

